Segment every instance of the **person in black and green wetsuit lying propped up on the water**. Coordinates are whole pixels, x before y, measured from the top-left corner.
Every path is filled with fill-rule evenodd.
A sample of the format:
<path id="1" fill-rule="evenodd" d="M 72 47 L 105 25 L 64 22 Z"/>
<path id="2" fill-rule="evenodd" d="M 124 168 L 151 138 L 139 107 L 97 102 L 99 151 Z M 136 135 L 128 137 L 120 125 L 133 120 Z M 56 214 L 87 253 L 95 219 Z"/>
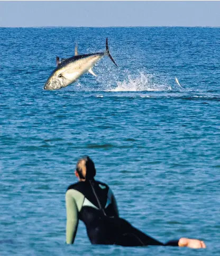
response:
<path id="1" fill-rule="evenodd" d="M 203 241 L 184 237 L 167 243 L 159 242 L 120 218 L 111 188 L 94 179 L 95 164 L 89 157 L 79 159 L 75 175 L 79 182 L 70 185 L 66 191 L 67 244 L 74 243 L 78 222 L 81 220 L 86 225 L 91 244 L 206 248 Z"/>

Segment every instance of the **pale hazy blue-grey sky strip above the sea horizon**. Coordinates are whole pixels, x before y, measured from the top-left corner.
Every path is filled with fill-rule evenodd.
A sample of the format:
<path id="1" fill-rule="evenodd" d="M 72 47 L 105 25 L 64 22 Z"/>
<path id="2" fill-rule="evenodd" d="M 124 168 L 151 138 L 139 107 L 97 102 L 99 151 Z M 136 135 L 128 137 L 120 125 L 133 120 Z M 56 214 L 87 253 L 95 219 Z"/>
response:
<path id="1" fill-rule="evenodd" d="M 220 26 L 220 1 L 0 1 L 0 26 Z"/>

